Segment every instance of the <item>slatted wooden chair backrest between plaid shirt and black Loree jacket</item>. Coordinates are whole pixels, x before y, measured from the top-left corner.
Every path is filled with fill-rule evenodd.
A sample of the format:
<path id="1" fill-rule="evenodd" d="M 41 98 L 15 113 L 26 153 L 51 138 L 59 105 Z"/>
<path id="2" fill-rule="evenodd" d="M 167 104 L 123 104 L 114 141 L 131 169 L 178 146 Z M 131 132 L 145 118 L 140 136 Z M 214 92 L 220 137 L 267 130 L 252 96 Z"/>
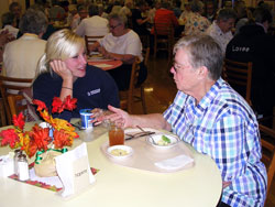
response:
<path id="1" fill-rule="evenodd" d="M 252 63 L 241 63 L 224 58 L 222 77 L 251 105 Z"/>

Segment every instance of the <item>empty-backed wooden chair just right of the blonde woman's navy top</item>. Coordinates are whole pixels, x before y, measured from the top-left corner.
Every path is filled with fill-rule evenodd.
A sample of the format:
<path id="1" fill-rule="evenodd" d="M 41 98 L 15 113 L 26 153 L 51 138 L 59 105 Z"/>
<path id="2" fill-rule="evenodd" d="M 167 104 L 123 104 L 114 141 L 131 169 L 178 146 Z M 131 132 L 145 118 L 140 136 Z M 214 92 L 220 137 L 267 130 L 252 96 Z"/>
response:
<path id="1" fill-rule="evenodd" d="M 130 86 L 128 90 L 119 91 L 121 109 L 127 110 L 129 113 L 133 112 L 133 103 L 141 101 L 143 112 L 147 113 L 145 97 L 144 97 L 144 85 L 138 85 L 138 77 L 140 74 L 140 59 L 135 57 L 135 62 L 132 65 L 132 73 L 130 79 Z M 135 90 L 139 90 L 140 96 L 135 95 Z"/>

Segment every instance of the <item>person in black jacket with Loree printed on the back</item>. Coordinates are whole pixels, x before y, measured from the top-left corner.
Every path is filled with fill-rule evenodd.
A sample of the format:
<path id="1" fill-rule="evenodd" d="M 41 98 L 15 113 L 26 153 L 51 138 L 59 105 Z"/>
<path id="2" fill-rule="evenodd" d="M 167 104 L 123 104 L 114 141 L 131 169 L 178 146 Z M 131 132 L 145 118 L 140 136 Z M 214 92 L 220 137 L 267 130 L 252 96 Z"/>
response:
<path id="1" fill-rule="evenodd" d="M 271 12 L 257 8 L 253 17 L 255 22 L 243 25 L 229 42 L 226 57 L 237 62 L 252 62 L 252 107 L 258 117 L 265 117 L 273 115 L 275 106 L 275 40 L 267 34 L 272 22 Z M 244 95 L 239 88 L 235 89 Z"/>

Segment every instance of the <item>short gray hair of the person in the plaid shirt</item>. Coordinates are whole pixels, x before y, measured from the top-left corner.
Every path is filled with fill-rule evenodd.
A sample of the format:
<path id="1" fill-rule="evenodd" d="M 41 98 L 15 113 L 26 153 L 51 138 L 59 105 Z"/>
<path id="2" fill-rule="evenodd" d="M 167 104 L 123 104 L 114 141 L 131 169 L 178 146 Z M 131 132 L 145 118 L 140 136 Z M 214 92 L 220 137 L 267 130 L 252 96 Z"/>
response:
<path id="1" fill-rule="evenodd" d="M 220 45 L 209 35 L 193 35 L 182 37 L 174 46 L 174 55 L 178 50 L 187 51 L 193 68 L 207 67 L 209 78 L 219 79 L 222 70 L 222 50 Z"/>

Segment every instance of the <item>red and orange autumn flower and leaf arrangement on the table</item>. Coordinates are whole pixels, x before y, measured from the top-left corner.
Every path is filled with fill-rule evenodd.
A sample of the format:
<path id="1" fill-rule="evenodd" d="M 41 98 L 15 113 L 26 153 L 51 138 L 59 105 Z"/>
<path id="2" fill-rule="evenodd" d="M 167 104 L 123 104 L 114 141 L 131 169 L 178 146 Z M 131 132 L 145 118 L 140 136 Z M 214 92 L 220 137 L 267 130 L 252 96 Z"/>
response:
<path id="1" fill-rule="evenodd" d="M 61 113 L 64 109 L 73 110 L 76 108 L 76 102 L 77 99 L 70 99 L 70 96 L 66 97 L 64 101 L 55 97 L 52 103 L 52 112 Z M 22 151 L 25 151 L 29 157 L 32 157 L 37 151 L 47 151 L 52 142 L 56 150 L 62 150 L 66 145 L 70 146 L 74 139 L 78 138 L 75 128 L 66 120 L 54 119 L 43 101 L 34 99 L 33 103 L 37 106 L 36 110 L 41 117 L 54 129 L 54 138 L 50 137 L 50 128 L 43 129 L 37 123 L 34 124 L 31 131 L 24 131 L 25 121 L 21 112 L 19 116 L 14 115 L 12 118 L 14 129 L 7 129 L 0 132 L 0 137 L 2 137 L 1 146 L 10 145 L 11 149 L 20 148 Z"/>

